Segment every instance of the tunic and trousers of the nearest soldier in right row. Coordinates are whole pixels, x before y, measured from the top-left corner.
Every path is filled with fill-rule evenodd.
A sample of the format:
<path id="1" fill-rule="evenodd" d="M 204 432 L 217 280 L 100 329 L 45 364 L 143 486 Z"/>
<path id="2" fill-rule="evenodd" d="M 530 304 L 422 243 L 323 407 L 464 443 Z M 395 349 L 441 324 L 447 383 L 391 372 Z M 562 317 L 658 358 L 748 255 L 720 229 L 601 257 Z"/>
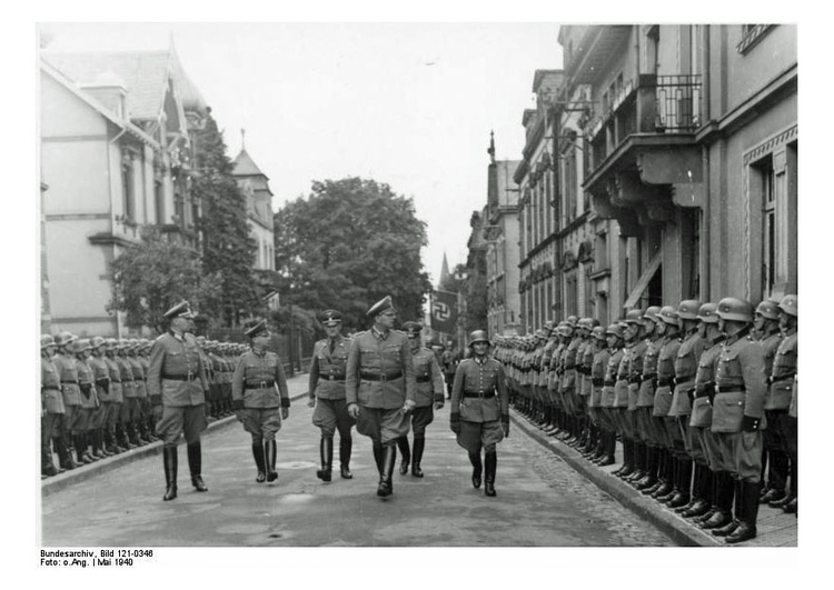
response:
<path id="1" fill-rule="evenodd" d="M 765 427 L 764 351 L 748 337 L 748 330 L 728 338 L 722 346 L 715 374 L 712 430 L 732 472 L 749 483 L 762 478 L 762 430 Z M 756 431 L 742 431 L 744 417 L 756 420 Z"/>

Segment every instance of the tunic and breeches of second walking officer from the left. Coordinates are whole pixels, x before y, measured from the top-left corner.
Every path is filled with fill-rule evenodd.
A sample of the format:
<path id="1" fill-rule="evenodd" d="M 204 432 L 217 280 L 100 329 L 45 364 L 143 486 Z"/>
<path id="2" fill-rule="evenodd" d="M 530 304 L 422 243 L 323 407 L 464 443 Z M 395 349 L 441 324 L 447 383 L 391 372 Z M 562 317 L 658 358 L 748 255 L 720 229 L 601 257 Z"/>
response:
<path id="1" fill-rule="evenodd" d="M 231 400 L 252 441 L 274 440 L 281 428 L 280 408 L 289 408 L 289 390 L 278 354 L 251 350 L 240 357 L 231 377 Z"/>

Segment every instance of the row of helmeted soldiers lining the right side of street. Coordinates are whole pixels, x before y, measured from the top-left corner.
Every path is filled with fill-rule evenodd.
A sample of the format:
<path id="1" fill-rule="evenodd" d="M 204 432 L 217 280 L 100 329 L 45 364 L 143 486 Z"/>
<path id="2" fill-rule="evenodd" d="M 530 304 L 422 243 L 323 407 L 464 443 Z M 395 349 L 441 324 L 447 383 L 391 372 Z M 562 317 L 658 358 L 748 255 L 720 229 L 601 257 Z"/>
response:
<path id="1" fill-rule="evenodd" d="M 496 337 L 514 407 L 728 543 L 797 511 L 797 297 L 634 309 Z M 733 508 L 735 507 L 735 512 Z M 734 517 L 735 514 L 735 517 Z"/>

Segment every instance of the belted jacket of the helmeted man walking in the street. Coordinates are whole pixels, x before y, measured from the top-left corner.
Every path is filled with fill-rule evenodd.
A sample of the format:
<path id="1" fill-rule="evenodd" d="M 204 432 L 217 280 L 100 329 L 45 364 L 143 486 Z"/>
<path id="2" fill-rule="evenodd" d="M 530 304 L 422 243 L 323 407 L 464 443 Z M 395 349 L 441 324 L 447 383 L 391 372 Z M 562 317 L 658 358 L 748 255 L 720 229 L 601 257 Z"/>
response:
<path id="1" fill-rule="evenodd" d="M 451 413 L 467 422 L 509 419 L 509 397 L 504 367 L 493 358 L 466 359 L 457 367 L 451 386 Z"/>

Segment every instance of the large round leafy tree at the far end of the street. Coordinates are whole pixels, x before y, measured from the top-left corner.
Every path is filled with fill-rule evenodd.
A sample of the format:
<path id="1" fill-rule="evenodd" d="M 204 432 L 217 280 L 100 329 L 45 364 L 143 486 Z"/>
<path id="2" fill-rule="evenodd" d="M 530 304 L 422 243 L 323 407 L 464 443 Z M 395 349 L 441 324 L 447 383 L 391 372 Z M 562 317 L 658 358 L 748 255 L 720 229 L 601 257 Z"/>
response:
<path id="1" fill-rule="evenodd" d="M 350 329 L 365 328 L 365 313 L 386 294 L 403 319 L 423 318 L 431 290 L 420 249 L 426 223 L 414 201 L 388 184 L 346 178 L 312 183 L 307 199 L 275 216 L 276 268 L 282 300 L 310 311 L 329 308 Z"/>

